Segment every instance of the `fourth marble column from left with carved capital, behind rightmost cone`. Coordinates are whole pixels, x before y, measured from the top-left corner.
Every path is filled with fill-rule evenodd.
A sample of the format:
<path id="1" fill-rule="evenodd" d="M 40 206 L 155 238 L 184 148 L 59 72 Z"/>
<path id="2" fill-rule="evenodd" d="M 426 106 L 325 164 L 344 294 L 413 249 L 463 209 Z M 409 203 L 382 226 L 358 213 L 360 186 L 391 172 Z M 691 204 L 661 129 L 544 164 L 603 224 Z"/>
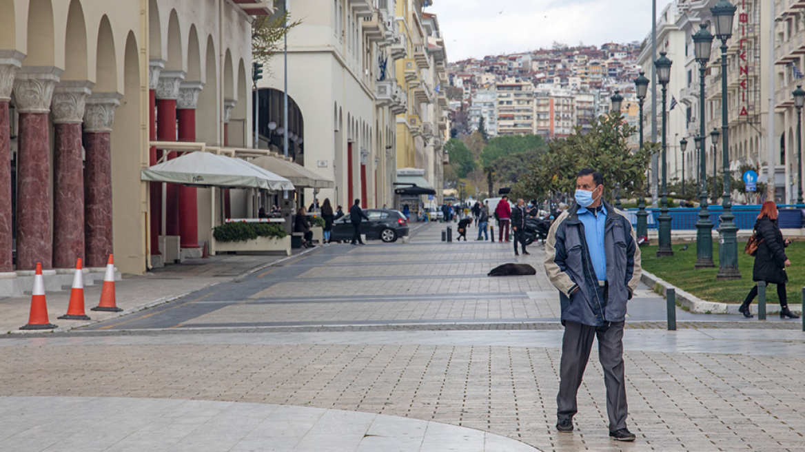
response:
<path id="1" fill-rule="evenodd" d="M 102 269 L 112 249 L 112 142 L 117 92 L 93 92 L 84 113 L 86 162 L 85 240 L 86 266 Z"/>

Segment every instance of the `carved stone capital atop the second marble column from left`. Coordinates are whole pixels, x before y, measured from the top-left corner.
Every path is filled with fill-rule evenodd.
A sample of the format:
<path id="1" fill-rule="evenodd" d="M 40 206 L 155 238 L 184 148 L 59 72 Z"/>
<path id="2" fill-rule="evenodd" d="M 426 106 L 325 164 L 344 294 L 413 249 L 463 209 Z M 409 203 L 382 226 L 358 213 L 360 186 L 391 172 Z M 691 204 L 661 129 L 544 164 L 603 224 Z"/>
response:
<path id="1" fill-rule="evenodd" d="M 50 113 L 53 89 L 59 83 L 60 68 L 27 66 L 14 77 L 14 101 L 19 113 Z"/>

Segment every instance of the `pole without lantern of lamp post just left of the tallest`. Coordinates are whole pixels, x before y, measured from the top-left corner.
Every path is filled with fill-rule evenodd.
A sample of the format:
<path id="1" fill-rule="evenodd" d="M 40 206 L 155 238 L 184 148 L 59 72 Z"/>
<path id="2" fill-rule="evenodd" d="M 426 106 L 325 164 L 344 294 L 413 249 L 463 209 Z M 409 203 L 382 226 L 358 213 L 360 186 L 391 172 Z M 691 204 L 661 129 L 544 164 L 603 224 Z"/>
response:
<path id="1" fill-rule="evenodd" d="M 696 264 L 695 269 L 715 267 L 712 261 L 712 221 L 710 212 L 707 210 L 707 154 L 704 150 L 706 135 L 704 134 L 704 62 L 699 65 L 699 137 L 701 139 L 699 149 L 700 164 L 700 187 L 699 187 L 699 221 L 696 222 Z M 715 182 L 716 179 L 713 179 Z"/>

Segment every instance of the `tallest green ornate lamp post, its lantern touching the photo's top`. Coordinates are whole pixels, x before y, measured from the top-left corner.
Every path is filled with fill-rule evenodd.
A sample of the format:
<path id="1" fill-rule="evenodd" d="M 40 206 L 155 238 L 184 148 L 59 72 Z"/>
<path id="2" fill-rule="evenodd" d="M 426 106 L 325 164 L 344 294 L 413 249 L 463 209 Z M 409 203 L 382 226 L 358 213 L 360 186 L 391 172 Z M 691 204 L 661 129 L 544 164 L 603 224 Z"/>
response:
<path id="1" fill-rule="evenodd" d="M 721 134 L 724 135 L 724 141 L 721 142 L 724 155 L 724 195 L 721 205 L 724 206 L 724 214 L 721 216 L 719 228 L 721 237 L 719 269 L 716 275 L 718 280 L 741 277 L 741 271 L 738 269 L 738 227 L 731 211 L 733 206 L 729 188 L 729 121 L 727 117 L 727 40 L 733 35 L 735 10 L 737 8 L 727 0 L 720 0 L 716 6 L 710 8 L 713 21 L 716 23 L 716 37 L 721 40 Z"/>

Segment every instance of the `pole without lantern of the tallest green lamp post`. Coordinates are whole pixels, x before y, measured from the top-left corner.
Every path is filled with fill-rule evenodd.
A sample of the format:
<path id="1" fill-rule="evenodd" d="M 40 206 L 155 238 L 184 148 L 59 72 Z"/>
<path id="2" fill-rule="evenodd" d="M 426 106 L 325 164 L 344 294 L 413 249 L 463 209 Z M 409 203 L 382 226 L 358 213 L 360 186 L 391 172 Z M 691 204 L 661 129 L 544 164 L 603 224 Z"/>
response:
<path id="1" fill-rule="evenodd" d="M 733 221 L 735 216 L 731 211 L 733 206 L 729 188 L 729 121 L 727 114 L 727 39 L 721 39 L 721 143 L 724 146 L 722 148 L 724 195 L 721 205 L 724 206 L 724 214 L 721 215 L 719 228 L 721 238 L 718 253 L 719 269 L 716 275 L 716 279 L 719 281 L 741 278 L 741 271 L 738 269 L 738 228 Z"/>

